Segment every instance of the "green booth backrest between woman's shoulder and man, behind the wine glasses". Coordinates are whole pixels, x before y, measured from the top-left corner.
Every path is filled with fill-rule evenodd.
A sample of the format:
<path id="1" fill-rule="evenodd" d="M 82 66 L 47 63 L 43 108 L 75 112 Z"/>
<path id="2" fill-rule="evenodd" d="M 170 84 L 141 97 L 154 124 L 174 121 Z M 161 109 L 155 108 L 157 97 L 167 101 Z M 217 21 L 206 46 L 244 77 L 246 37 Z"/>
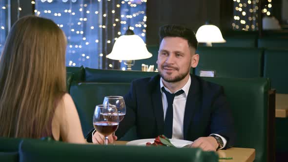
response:
<path id="1" fill-rule="evenodd" d="M 114 79 L 115 80 L 115 79 Z M 130 83 L 79 83 L 70 88 L 70 95 L 76 105 L 85 136 L 93 128 L 95 106 L 103 104 L 105 96 L 124 96 Z"/>

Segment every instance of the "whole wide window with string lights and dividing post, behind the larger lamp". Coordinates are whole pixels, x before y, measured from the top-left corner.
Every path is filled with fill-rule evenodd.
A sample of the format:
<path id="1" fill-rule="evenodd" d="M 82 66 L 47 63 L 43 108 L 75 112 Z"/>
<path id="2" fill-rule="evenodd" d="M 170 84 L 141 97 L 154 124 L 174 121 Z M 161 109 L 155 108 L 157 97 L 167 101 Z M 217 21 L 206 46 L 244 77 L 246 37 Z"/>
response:
<path id="1" fill-rule="evenodd" d="M 145 41 L 146 0 L 36 0 L 35 9 L 64 31 L 66 66 L 118 69 L 105 56 L 128 24 Z"/>

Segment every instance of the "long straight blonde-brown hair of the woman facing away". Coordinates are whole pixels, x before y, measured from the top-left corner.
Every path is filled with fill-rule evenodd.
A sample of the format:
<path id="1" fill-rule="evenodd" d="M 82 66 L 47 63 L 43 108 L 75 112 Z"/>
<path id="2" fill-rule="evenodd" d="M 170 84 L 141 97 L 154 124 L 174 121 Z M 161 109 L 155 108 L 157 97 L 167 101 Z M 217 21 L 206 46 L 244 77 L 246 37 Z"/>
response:
<path id="1" fill-rule="evenodd" d="M 65 50 L 65 35 L 52 20 L 27 16 L 12 26 L 0 59 L 0 136 L 52 132 L 66 91 Z"/>

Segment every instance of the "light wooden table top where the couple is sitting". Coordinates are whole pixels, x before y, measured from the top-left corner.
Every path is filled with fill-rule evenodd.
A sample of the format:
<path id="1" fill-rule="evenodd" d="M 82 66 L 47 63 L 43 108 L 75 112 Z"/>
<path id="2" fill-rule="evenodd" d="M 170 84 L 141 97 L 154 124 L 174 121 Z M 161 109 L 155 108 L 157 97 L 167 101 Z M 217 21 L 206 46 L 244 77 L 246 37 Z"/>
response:
<path id="1" fill-rule="evenodd" d="M 127 141 L 115 141 L 116 145 L 124 145 Z M 229 158 L 232 160 L 220 160 L 220 162 L 253 162 L 255 159 L 255 149 L 232 147 L 226 150 L 217 151 L 219 158 Z"/>

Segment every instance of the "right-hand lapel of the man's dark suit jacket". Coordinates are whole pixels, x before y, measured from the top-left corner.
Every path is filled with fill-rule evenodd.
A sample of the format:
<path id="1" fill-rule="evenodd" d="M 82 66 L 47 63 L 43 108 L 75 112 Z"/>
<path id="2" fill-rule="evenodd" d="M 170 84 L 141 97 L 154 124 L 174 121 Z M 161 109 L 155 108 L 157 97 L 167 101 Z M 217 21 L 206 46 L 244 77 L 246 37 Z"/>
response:
<path id="1" fill-rule="evenodd" d="M 186 105 L 185 105 L 185 114 L 184 114 L 184 126 L 183 126 L 183 136 L 184 140 L 187 139 L 188 130 L 191 126 L 191 121 L 195 115 L 195 110 L 200 107 L 200 97 L 199 97 L 199 81 L 195 76 L 190 75 L 191 85 L 189 88 Z"/>

